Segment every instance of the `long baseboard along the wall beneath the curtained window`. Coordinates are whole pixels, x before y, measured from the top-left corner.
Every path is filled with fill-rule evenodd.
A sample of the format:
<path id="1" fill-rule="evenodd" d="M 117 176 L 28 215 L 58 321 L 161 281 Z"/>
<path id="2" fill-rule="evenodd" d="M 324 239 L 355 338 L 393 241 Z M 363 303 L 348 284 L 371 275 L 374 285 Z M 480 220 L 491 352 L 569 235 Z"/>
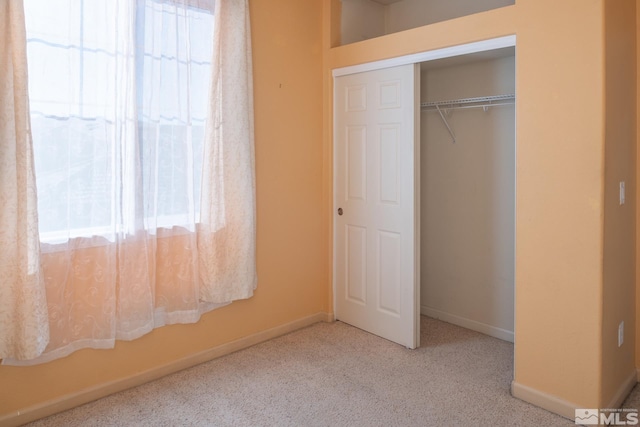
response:
<path id="1" fill-rule="evenodd" d="M 255 334 L 221 344 L 217 347 L 186 356 L 182 359 L 175 360 L 168 364 L 158 366 L 147 371 L 143 371 L 130 377 L 115 380 L 108 383 L 99 384 L 65 396 L 50 400 L 48 402 L 34 405 L 24 410 L 17 411 L 6 415 L 0 415 L 0 426 L 14 427 L 26 424 L 31 421 L 44 418 L 58 412 L 66 411 L 76 406 L 92 402 L 94 400 L 106 397 L 119 391 L 127 390 L 145 384 L 149 381 L 162 378 L 174 372 L 199 365 L 204 362 L 234 353 L 238 350 L 251 347 L 264 341 L 286 335 L 290 332 L 302 329 L 319 322 L 333 321 L 333 313 L 316 313 L 311 316 L 303 317 L 298 320 L 276 326 L 265 331 L 256 332 Z"/>

